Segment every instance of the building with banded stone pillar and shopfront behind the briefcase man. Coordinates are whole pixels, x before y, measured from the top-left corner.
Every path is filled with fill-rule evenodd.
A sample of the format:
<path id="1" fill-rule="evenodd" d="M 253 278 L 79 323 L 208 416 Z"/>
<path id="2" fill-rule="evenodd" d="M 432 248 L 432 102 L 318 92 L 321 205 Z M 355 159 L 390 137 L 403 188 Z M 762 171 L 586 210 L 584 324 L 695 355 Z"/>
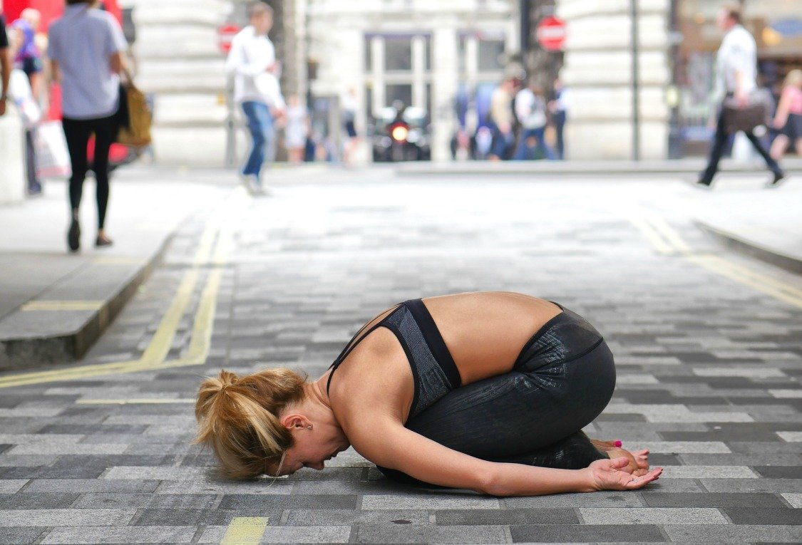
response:
<path id="1" fill-rule="evenodd" d="M 711 101 L 711 91 L 715 52 L 723 38 L 715 18 L 723 3 L 521 0 L 522 28 L 529 29 L 523 41 L 525 64 L 530 71 L 549 75 L 557 71 L 569 87 L 567 158 L 706 154 L 711 139 L 708 121 L 718 106 Z M 802 67 L 799 2 L 741 0 L 740 4 L 744 26 L 758 46 L 759 83 L 778 95 L 784 75 Z M 557 53 L 541 50 L 533 31 L 542 17 L 551 14 L 566 23 L 564 50 Z"/>

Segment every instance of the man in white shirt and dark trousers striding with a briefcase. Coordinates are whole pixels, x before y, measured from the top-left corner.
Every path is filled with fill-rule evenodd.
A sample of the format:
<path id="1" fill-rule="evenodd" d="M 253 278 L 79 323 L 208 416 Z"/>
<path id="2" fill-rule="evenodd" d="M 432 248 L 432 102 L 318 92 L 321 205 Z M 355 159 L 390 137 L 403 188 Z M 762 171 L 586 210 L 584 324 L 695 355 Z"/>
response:
<path id="1" fill-rule="evenodd" d="M 755 38 L 749 31 L 741 26 L 741 9 L 738 4 L 724 4 L 719 9 L 716 24 L 725 32 L 724 38 L 715 58 L 716 93 L 725 99 L 734 99 L 739 108 L 746 107 L 749 95 L 757 87 L 757 46 Z M 713 176 L 719 169 L 719 159 L 727 143 L 727 115 L 722 100 L 719 107 L 718 120 L 715 127 L 715 136 L 707 162 L 707 168 L 695 182 L 697 187 L 709 188 L 713 183 Z M 752 131 L 745 131 L 747 139 L 755 150 L 764 158 L 768 168 L 774 173 L 769 186 L 780 184 L 785 177 L 780 165 L 772 159 L 768 151 L 760 143 Z"/>

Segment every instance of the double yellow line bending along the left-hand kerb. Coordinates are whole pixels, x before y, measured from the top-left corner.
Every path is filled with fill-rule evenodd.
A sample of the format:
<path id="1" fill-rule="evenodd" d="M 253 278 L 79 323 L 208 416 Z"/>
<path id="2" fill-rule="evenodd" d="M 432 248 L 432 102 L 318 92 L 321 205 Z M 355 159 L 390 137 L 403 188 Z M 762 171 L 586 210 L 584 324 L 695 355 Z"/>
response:
<path id="1" fill-rule="evenodd" d="M 205 363 L 211 344 L 214 313 L 217 308 L 217 293 L 223 277 L 223 266 L 228 262 L 229 252 L 233 246 L 233 218 L 241 211 L 249 197 L 242 188 L 237 188 L 229 199 L 218 208 L 206 223 L 198 248 L 195 252 L 192 267 L 184 273 L 176 294 L 167 312 L 164 313 L 156 333 L 139 359 L 116 361 L 95 365 L 79 365 L 67 369 L 53 369 L 36 373 L 18 373 L 0 377 L 0 388 L 42 384 L 45 382 L 61 382 L 79 378 L 96 377 L 110 373 L 136 373 L 154 369 L 168 369 L 185 365 L 201 365 Z M 187 311 L 195 293 L 198 281 L 201 280 L 201 269 L 210 268 L 201 298 L 197 305 L 192 324 L 192 338 L 182 357 L 167 360 L 172 341 L 181 317 Z"/>

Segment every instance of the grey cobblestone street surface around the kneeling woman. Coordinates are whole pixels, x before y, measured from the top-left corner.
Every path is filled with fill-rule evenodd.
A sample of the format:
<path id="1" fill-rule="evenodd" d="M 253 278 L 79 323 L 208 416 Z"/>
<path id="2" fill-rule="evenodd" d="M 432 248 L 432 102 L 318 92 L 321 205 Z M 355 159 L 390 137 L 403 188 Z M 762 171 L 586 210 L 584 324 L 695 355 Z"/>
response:
<path id="1" fill-rule="evenodd" d="M 640 182 L 321 171 L 233 190 L 78 365 L 0 374 L 0 543 L 802 541 L 802 280 L 703 236 L 691 188 Z M 203 375 L 314 377 L 397 301 L 492 289 L 604 333 L 618 386 L 586 431 L 649 447 L 658 482 L 489 498 L 387 482 L 353 450 L 225 482 L 189 444 Z"/>

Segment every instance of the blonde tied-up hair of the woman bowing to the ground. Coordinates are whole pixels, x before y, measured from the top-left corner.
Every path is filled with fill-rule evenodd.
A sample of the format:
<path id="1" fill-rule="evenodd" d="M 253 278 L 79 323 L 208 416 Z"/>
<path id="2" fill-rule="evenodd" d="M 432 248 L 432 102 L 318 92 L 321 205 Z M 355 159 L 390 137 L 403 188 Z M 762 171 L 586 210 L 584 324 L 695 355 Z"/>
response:
<path id="1" fill-rule="evenodd" d="M 225 369 L 201 382 L 195 402 L 198 431 L 193 443 L 212 447 L 228 478 L 253 478 L 270 462 L 281 466 L 293 445 L 278 419 L 301 401 L 306 377 L 290 369 L 265 369 L 238 377 Z"/>

